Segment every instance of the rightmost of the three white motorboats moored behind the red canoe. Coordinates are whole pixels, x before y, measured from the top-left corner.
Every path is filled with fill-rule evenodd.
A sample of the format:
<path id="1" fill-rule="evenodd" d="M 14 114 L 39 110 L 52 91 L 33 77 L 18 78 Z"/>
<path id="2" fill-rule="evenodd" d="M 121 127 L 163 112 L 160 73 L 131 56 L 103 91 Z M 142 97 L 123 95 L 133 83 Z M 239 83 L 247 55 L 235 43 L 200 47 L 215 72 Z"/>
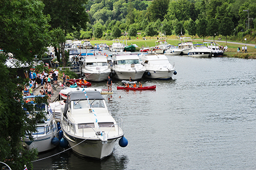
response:
<path id="1" fill-rule="evenodd" d="M 142 65 L 146 67 L 144 76 L 151 79 L 171 79 L 175 67 L 171 65 L 164 54 L 142 53 L 139 55 Z"/>

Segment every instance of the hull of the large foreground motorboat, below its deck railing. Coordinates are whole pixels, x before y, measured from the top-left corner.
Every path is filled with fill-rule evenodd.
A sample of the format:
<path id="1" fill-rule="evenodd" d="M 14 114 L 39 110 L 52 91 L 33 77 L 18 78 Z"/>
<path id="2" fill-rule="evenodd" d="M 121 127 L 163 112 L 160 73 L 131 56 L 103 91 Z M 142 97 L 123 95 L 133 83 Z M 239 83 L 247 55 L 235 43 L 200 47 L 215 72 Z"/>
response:
<path id="1" fill-rule="evenodd" d="M 102 143 L 100 139 L 89 140 L 86 138 L 72 137 L 67 133 L 64 133 L 64 137 L 65 139 L 67 139 L 69 146 L 72 147 L 72 150 L 77 154 L 79 154 L 80 156 L 101 160 L 106 158 L 106 156 L 109 156 L 112 154 L 115 146 L 115 141 L 117 141 L 117 139 L 121 138 L 122 136 L 119 136 L 118 138 L 114 138 L 114 139 L 108 139 L 108 142 L 105 142 L 105 143 Z M 78 143 L 80 144 L 77 145 Z"/>

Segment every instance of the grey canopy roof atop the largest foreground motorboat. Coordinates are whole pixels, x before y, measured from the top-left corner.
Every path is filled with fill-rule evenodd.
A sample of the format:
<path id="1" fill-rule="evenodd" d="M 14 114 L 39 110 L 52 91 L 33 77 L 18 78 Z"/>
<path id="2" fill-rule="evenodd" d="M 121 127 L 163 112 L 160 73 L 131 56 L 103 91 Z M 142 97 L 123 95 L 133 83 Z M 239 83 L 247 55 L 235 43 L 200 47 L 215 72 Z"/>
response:
<path id="1" fill-rule="evenodd" d="M 85 92 L 86 92 L 86 96 L 85 96 Z M 69 92 L 68 93 L 68 100 L 85 100 L 85 99 L 104 99 L 104 97 L 102 97 L 102 95 L 100 94 L 99 91 L 75 91 L 75 92 Z"/>

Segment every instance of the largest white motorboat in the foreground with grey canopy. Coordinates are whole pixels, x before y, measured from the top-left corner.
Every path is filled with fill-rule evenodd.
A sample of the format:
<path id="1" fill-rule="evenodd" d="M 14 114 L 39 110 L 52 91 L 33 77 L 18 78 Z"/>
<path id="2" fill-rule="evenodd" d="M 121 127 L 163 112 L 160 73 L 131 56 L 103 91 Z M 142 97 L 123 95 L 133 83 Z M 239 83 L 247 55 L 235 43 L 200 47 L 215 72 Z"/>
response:
<path id="1" fill-rule="evenodd" d="M 122 119 L 114 120 L 100 92 L 68 93 L 61 110 L 61 128 L 77 154 L 94 159 L 111 155 L 115 142 L 123 137 L 121 127 Z"/>

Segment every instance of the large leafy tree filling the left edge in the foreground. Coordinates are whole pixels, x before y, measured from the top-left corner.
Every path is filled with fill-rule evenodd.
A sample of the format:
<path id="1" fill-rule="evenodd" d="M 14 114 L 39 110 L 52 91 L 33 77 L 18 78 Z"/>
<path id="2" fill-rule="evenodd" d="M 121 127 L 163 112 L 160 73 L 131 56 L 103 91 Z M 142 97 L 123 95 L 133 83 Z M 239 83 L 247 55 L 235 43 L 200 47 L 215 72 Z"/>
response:
<path id="1" fill-rule="evenodd" d="M 3 0 L 0 8 L 0 162 L 5 162 L 11 169 L 21 169 L 24 164 L 32 167 L 36 159 L 36 150 L 26 150 L 20 139 L 36 131 L 36 121 L 43 117 L 38 113 L 31 119 L 22 109 L 22 76 L 17 78 L 17 69 L 7 68 L 8 52 L 16 59 L 30 62 L 35 54 L 41 56 L 48 45 L 48 18 L 43 15 L 43 3 L 36 0 Z M 16 65 L 20 67 L 20 65 Z M 17 86 L 18 85 L 18 86 Z M 37 101 L 41 103 L 41 101 Z M 28 111 L 32 110 L 27 105 Z"/>

